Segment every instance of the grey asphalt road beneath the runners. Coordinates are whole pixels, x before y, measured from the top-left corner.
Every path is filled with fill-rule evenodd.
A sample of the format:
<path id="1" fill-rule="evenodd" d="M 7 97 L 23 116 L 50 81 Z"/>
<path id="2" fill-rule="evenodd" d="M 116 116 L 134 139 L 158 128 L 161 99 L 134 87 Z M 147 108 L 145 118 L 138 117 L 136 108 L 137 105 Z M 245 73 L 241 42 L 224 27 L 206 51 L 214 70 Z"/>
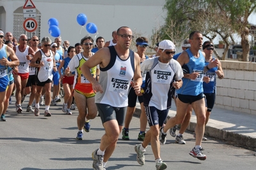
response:
<path id="1" fill-rule="evenodd" d="M 13 98 L 14 99 L 14 98 Z M 63 99 L 61 99 L 63 101 Z M 78 111 L 65 115 L 61 103 L 51 106 L 52 117 L 33 113 L 17 114 L 14 104 L 6 114 L 7 122 L 0 122 L 0 169 L 92 169 L 92 152 L 99 147 L 104 134 L 100 117 L 91 121 L 91 131 L 84 132 L 84 140 L 77 141 L 76 118 Z M 28 97 L 24 101 L 26 110 Z M 41 106 L 41 113 L 44 106 Z M 140 166 L 136 161 L 134 145 L 140 131 L 139 118 L 132 118 L 130 141 L 120 140 L 109 159 L 106 169 L 156 169 L 154 155 L 148 146 L 145 153 L 146 163 Z M 167 169 L 256 169 L 255 152 L 236 146 L 226 145 L 222 141 L 209 138 L 202 147 L 207 159 L 202 161 L 188 153 L 195 145 L 191 132 L 184 134 L 186 145 L 175 143 L 168 135 L 166 145 L 161 145 L 161 157 Z"/>

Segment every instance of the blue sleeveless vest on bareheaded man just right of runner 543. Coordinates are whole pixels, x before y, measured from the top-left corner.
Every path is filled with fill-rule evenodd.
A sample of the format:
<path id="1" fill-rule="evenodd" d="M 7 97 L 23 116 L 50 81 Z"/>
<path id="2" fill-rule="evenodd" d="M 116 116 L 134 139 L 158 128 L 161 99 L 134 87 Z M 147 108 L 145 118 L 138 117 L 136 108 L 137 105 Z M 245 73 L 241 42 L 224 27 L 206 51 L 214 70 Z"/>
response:
<path id="1" fill-rule="evenodd" d="M 191 95 L 191 96 L 198 96 L 198 94 L 202 93 L 203 90 L 203 78 L 204 78 L 204 62 L 205 58 L 201 51 L 199 51 L 200 56 L 196 58 L 191 53 L 190 49 L 187 49 L 186 52 L 189 56 L 189 62 L 187 64 L 184 64 L 182 66 L 183 73 L 184 74 L 190 74 L 190 73 L 199 73 L 199 76 L 196 78 L 196 80 L 191 80 L 189 78 L 182 78 L 183 85 L 179 90 L 177 91 L 177 94 L 183 94 L 183 95 Z"/>

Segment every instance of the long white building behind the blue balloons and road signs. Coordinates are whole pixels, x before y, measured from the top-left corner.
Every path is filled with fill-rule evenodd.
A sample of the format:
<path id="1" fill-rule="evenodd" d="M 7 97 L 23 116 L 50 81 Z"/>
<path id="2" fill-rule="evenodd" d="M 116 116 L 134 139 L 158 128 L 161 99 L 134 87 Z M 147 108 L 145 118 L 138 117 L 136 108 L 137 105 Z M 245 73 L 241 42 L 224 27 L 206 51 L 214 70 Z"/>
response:
<path id="1" fill-rule="evenodd" d="M 38 28 L 29 33 L 39 38 L 49 36 L 49 18 L 59 22 L 61 39 L 68 39 L 70 45 L 80 42 L 88 32 L 77 23 L 76 17 L 84 13 L 87 22 L 97 25 L 99 34 L 91 34 L 93 38 L 102 36 L 106 41 L 111 39 L 111 32 L 121 26 L 128 26 L 136 34 L 150 38 L 152 30 L 164 23 L 166 12 L 163 11 L 165 0 L 31 0 L 36 6 Z M 24 34 L 23 6 L 24 0 L 0 0 L 0 29 L 12 32 L 19 38 Z M 54 40 L 54 37 L 51 37 Z"/>

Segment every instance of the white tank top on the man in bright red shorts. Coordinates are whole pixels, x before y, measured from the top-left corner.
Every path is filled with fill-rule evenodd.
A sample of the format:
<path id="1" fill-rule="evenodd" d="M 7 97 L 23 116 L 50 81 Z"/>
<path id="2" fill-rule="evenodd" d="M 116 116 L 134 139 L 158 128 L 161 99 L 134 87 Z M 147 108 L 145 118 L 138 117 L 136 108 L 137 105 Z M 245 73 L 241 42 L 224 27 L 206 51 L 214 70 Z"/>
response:
<path id="1" fill-rule="evenodd" d="M 29 73 L 29 60 L 27 60 L 26 55 L 28 55 L 28 49 L 29 46 L 26 46 L 26 50 L 24 52 L 20 52 L 19 50 L 19 45 L 15 46 L 16 47 L 16 52 L 15 54 L 17 55 L 19 59 L 19 73 Z"/>

